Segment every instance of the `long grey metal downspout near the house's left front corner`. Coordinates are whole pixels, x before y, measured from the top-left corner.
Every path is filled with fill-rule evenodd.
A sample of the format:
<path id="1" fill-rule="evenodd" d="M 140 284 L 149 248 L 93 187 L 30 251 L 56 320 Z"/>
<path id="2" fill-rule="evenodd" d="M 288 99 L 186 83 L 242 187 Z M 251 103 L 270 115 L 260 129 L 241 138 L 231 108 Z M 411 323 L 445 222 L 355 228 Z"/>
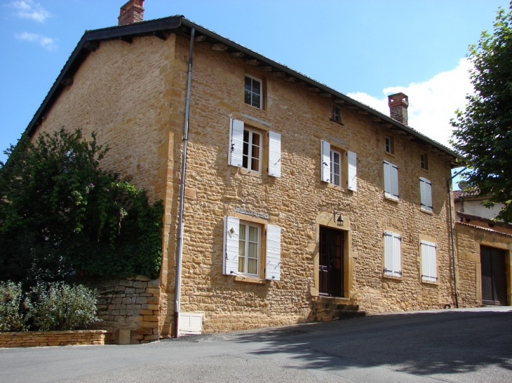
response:
<path id="1" fill-rule="evenodd" d="M 189 119 L 190 119 L 190 88 L 192 82 L 192 53 L 194 51 L 194 35 L 196 29 L 192 27 L 190 32 L 189 51 L 189 78 L 187 82 L 187 103 L 185 104 L 185 127 L 183 134 L 182 153 L 182 174 L 180 181 L 180 209 L 178 211 L 177 246 L 176 246 L 176 280 L 175 280 L 175 301 L 174 301 L 174 336 L 180 336 L 180 302 L 182 290 L 182 256 L 183 256 L 183 199 L 185 194 L 185 171 L 187 169 L 187 144 L 189 142 Z"/>

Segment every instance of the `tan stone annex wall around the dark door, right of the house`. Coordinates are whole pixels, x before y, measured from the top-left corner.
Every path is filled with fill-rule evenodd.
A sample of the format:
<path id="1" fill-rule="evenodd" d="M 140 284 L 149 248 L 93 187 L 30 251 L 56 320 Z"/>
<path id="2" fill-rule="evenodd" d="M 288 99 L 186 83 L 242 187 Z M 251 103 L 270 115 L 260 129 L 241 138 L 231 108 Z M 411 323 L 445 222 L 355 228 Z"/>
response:
<path id="1" fill-rule="evenodd" d="M 506 251 L 507 300 L 509 305 L 512 304 L 512 230 L 499 225 L 491 229 L 487 223 L 474 220 L 471 220 L 471 224 L 457 222 L 455 229 L 459 306 L 482 305 L 480 245 Z"/>

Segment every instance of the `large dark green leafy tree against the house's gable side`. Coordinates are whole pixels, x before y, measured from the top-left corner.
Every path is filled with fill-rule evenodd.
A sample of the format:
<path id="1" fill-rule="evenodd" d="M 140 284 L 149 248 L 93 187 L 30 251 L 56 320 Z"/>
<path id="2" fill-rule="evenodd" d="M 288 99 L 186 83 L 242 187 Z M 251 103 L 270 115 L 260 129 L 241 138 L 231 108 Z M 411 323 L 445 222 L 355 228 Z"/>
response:
<path id="1" fill-rule="evenodd" d="M 22 137 L 0 162 L 0 280 L 27 289 L 79 277 L 156 277 L 163 207 L 100 168 L 81 130 Z"/>

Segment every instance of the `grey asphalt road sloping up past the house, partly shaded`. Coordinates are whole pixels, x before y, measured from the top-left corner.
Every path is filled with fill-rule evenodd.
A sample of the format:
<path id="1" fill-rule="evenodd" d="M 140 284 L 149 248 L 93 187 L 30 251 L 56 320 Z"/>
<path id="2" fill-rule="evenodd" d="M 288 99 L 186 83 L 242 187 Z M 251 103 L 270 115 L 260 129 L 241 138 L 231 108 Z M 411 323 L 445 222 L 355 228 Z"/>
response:
<path id="1" fill-rule="evenodd" d="M 0 349 L 0 382 L 512 382 L 512 307 L 372 315 L 132 346 Z"/>

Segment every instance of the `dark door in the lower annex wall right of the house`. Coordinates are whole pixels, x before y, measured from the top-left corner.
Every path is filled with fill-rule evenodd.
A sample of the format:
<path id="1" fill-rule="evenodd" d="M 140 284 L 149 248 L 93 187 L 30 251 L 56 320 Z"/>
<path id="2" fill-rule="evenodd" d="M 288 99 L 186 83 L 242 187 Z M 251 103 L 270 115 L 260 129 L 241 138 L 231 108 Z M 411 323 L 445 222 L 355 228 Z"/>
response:
<path id="1" fill-rule="evenodd" d="M 506 306 L 505 251 L 480 246 L 482 304 Z"/>

